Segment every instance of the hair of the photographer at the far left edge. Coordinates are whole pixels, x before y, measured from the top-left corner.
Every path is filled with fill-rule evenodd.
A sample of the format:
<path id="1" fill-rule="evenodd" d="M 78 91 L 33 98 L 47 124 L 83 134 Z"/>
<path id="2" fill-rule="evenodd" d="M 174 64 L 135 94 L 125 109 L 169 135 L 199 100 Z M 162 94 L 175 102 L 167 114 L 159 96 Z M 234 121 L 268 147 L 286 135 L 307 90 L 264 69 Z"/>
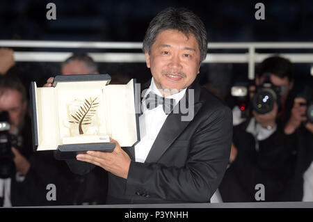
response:
<path id="1" fill-rule="evenodd" d="M 22 95 L 22 102 L 27 100 L 26 89 L 22 81 L 17 77 L 8 76 L 7 74 L 0 76 L 0 96 L 6 93 L 6 90 L 17 90 Z"/>

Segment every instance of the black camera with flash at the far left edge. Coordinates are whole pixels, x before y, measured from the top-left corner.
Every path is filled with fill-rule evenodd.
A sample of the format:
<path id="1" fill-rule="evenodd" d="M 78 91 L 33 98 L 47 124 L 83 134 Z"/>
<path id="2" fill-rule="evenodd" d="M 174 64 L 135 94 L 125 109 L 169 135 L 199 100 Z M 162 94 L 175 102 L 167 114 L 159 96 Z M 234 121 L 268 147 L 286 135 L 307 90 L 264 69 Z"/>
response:
<path id="1" fill-rule="evenodd" d="M 7 111 L 0 111 L 0 178 L 8 178 L 15 173 L 12 147 L 20 150 L 22 141 L 10 134 L 10 116 Z"/>

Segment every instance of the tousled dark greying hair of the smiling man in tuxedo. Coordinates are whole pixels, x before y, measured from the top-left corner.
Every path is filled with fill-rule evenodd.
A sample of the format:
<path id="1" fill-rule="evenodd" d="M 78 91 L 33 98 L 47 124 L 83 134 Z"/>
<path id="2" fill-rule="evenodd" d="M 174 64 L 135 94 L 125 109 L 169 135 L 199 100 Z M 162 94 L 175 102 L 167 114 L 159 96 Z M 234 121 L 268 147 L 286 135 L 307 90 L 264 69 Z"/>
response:
<path id="1" fill-rule="evenodd" d="M 193 34 L 200 49 L 200 63 L 207 56 L 207 31 L 201 19 L 186 8 L 166 8 L 157 14 L 149 24 L 143 40 L 143 51 L 151 53 L 157 35 L 167 29 Z"/>

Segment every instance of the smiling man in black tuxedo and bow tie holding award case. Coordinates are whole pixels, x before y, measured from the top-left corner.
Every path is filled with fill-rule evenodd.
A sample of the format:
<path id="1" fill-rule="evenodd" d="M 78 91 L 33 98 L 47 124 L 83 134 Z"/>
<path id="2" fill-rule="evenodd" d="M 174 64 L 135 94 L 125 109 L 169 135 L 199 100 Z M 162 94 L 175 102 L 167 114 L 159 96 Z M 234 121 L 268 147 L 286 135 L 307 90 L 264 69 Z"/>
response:
<path id="1" fill-rule="evenodd" d="M 112 139 L 113 152 L 88 151 L 67 164 L 80 174 L 94 165 L 108 171 L 107 204 L 208 203 L 230 156 L 232 112 L 196 78 L 207 55 L 204 24 L 190 10 L 166 8 L 150 22 L 143 51 L 152 79 L 141 86 L 141 141 L 120 148 Z"/>

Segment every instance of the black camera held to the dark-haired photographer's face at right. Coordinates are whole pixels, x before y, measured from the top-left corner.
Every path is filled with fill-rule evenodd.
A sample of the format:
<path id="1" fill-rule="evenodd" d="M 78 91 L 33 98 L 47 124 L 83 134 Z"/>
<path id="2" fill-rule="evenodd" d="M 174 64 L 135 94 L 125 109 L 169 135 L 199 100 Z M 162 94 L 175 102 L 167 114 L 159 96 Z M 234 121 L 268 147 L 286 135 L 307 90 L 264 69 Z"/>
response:
<path id="1" fill-rule="evenodd" d="M 257 86 L 251 103 L 257 113 L 265 114 L 273 110 L 274 103 L 280 105 L 280 97 L 284 95 L 284 86 L 275 86 L 271 83 L 271 73 L 264 73 L 264 83 Z"/>

